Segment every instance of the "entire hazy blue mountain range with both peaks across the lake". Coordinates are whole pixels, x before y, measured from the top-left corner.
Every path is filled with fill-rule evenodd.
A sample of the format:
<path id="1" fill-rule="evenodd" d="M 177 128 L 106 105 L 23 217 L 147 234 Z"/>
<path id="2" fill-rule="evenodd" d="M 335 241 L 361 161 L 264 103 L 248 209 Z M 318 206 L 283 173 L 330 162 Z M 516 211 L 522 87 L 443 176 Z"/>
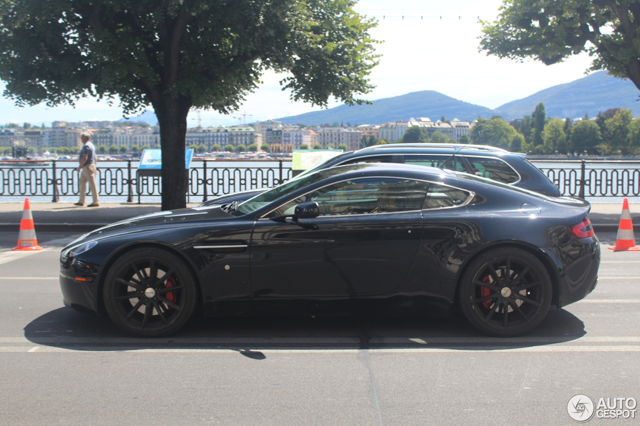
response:
<path id="1" fill-rule="evenodd" d="M 411 117 L 429 117 L 435 121 L 443 115 L 449 120 L 475 120 L 478 116 L 490 118 L 492 115 L 499 115 L 508 120 L 531 114 L 540 102 L 545 104 L 548 117 L 580 118 L 584 114 L 593 117 L 599 111 L 618 107 L 631 109 L 636 116 L 640 116 L 640 104 L 637 102 L 639 94 L 636 86 L 630 81 L 599 71 L 571 83 L 559 84 L 524 99 L 508 102 L 496 109 L 469 104 L 437 91 L 424 90 L 374 100 L 372 105 L 341 105 L 276 120 L 305 125 L 336 122 L 352 125 L 379 124 L 399 119 L 407 120 Z"/>

